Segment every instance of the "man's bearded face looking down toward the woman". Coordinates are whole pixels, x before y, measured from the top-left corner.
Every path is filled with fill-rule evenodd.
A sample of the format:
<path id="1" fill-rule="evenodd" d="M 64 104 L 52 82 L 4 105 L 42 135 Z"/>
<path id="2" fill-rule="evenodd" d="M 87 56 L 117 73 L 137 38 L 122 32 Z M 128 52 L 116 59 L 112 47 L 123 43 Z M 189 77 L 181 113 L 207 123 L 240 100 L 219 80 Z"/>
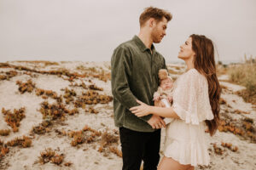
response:
<path id="1" fill-rule="evenodd" d="M 166 36 L 166 28 L 168 21 L 166 20 L 165 17 L 163 17 L 162 20 L 155 22 L 156 24 L 153 26 L 151 37 L 154 43 L 159 43 L 161 42 L 163 37 Z"/>

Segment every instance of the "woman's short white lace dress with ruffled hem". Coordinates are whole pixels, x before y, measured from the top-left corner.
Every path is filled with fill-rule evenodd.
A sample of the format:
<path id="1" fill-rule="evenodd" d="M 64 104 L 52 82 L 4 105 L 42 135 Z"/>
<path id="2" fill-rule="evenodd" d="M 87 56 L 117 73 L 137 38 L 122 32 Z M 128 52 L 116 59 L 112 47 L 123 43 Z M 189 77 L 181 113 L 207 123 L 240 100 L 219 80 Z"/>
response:
<path id="1" fill-rule="evenodd" d="M 212 120 L 206 77 L 190 69 L 174 83 L 173 109 L 181 119 L 166 127 L 164 155 L 181 164 L 208 165 L 205 120 Z"/>

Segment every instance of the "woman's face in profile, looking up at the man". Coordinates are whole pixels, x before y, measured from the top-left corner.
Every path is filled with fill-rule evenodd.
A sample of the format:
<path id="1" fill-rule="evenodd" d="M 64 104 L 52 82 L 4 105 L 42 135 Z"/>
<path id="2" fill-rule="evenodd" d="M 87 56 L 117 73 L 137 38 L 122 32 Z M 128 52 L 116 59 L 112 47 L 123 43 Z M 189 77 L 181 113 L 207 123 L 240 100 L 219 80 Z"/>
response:
<path id="1" fill-rule="evenodd" d="M 189 37 L 187 41 L 180 46 L 180 51 L 178 52 L 177 57 L 179 59 L 187 60 L 193 58 L 195 56 L 195 52 L 192 50 L 192 38 Z"/>

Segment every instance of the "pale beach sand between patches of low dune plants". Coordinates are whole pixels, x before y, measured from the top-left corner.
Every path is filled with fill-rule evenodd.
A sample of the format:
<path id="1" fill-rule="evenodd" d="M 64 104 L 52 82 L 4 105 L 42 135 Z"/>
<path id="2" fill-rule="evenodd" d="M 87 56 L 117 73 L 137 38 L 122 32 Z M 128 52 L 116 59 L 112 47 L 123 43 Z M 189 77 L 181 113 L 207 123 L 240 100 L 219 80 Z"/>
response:
<path id="1" fill-rule="evenodd" d="M 67 69 L 70 72 L 78 72 L 79 74 L 84 73 L 86 68 L 95 68 L 96 71 L 106 71 L 110 72 L 109 62 L 58 62 L 58 65 L 45 65 L 44 63 L 32 63 L 32 62 L 9 62 L 12 65 L 23 65 L 31 69 L 36 69 L 38 71 L 51 71 L 57 69 Z M 185 71 L 185 66 L 181 64 L 167 64 L 168 68 L 172 71 Z M 81 69 L 81 67 L 83 67 Z M 78 69 L 80 68 L 80 69 Z M 12 71 L 12 68 L 0 68 L 0 72 Z M 50 104 L 55 103 L 55 99 L 42 99 L 37 96 L 35 91 L 25 94 L 20 94 L 18 91 L 18 85 L 16 81 L 26 82 L 32 79 L 32 82 L 36 84 L 37 88 L 43 88 L 47 90 L 53 90 L 58 95 L 64 94 L 63 89 L 69 88 L 73 89 L 78 95 L 86 92 L 84 88 L 81 87 L 71 87 L 71 82 L 64 80 L 63 77 L 58 77 L 56 75 L 43 75 L 38 73 L 32 73 L 36 75 L 35 77 L 30 77 L 25 75 L 25 71 L 18 71 L 18 75 L 10 78 L 9 80 L 0 81 L 0 109 L 4 107 L 6 110 L 13 111 L 14 109 L 19 109 L 20 107 L 26 107 L 26 117 L 21 120 L 19 132 L 11 133 L 8 136 L 0 136 L 0 140 L 4 143 L 15 139 L 16 137 L 21 137 L 23 135 L 32 138 L 32 146 L 29 148 L 21 147 L 9 147 L 9 153 L 3 157 L 0 161 L 0 169 L 9 170 L 20 170 L 20 169 L 86 169 L 86 170 L 118 170 L 122 167 L 122 158 L 113 154 L 112 152 L 107 152 L 107 154 L 98 151 L 100 147 L 100 141 L 93 142 L 91 144 L 79 144 L 73 147 L 70 143 L 71 138 L 65 135 L 61 135 L 57 132 L 61 131 L 78 131 L 83 129 L 85 125 L 96 129 L 100 132 L 108 131 L 109 133 L 118 134 L 118 128 L 113 124 L 113 101 L 108 104 L 97 104 L 92 105 L 98 114 L 92 114 L 84 109 L 79 108 L 79 113 L 73 116 L 66 116 L 65 121 L 56 122 L 51 128 L 49 133 L 42 135 L 35 134 L 31 135 L 32 127 L 38 126 L 42 121 L 44 121 L 42 114 L 39 112 L 40 104 L 46 100 Z M 178 77 L 177 75 L 172 75 L 172 77 Z M 67 77 L 66 77 L 67 78 Z M 253 105 L 246 103 L 241 99 L 240 96 L 235 94 L 236 91 L 244 89 L 244 87 L 226 82 L 228 77 L 222 76 L 219 78 L 221 85 L 227 89 L 223 90 L 221 97 L 226 101 L 226 105 L 221 105 L 221 114 L 228 116 L 232 120 L 236 120 L 237 123 L 241 122 L 246 117 L 256 120 L 256 111 L 253 110 Z M 90 82 L 90 81 L 91 82 Z M 96 84 L 97 87 L 103 88 L 103 91 L 99 94 L 111 94 L 111 82 L 103 82 L 98 78 L 84 77 L 79 78 L 79 80 L 74 80 L 73 83 L 84 82 L 86 85 Z M 73 109 L 73 105 L 66 105 L 68 109 Z M 236 114 L 234 111 L 245 111 L 245 113 Z M 255 126 L 255 122 L 253 122 Z M 4 116 L 2 112 L 0 113 L 0 129 L 11 129 L 4 121 Z M 255 132 L 254 132 L 255 133 Z M 162 142 L 165 139 L 165 129 L 162 129 Z M 250 139 L 243 139 L 238 135 L 233 133 L 217 132 L 211 139 L 211 144 L 209 144 L 209 153 L 211 156 L 211 163 L 208 167 L 195 167 L 195 169 L 211 169 L 211 170 L 241 170 L 241 169 L 256 169 L 256 144 Z M 231 143 L 238 147 L 236 152 L 228 150 L 221 146 L 221 142 Z M 119 141 L 116 143 L 118 149 L 120 150 Z M 213 144 L 217 144 L 218 147 L 224 150 L 223 155 L 218 155 L 213 150 Z M 70 161 L 72 165 L 66 167 L 64 162 L 61 165 L 55 165 L 53 163 L 38 163 L 38 156 L 46 148 L 51 148 L 56 152 L 63 154 L 64 162 Z M 162 154 L 161 154 L 162 156 Z"/>

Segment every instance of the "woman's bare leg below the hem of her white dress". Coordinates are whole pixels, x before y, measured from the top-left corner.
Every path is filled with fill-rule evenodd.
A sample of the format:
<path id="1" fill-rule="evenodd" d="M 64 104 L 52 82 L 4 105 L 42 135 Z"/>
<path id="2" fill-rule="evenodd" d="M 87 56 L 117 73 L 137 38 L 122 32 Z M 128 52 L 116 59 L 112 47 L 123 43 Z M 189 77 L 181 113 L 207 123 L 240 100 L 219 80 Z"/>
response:
<path id="1" fill-rule="evenodd" d="M 178 161 L 173 160 L 171 157 L 164 156 L 160 161 L 160 165 L 157 168 L 158 170 L 194 170 L 194 167 L 191 165 L 183 165 Z"/>

